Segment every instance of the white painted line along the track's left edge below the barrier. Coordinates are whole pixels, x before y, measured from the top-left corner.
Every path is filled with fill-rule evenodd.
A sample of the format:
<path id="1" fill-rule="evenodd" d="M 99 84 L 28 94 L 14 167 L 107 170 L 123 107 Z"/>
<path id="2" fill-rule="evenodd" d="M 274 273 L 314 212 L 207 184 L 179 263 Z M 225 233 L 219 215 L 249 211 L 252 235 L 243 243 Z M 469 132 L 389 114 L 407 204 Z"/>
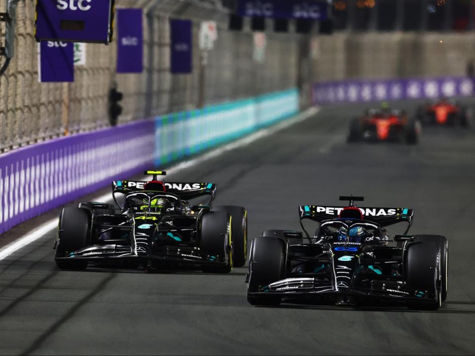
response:
<path id="1" fill-rule="evenodd" d="M 299 122 L 302 122 L 304 120 L 307 120 L 308 118 L 316 115 L 320 111 L 320 108 L 314 107 L 310 108 L 297 116 L 295 116 L 292 119 L 286 120 L 280 124 L 277 124 L 271 128 L 268 129 L 262 129 L 259 130 L 258 132 L 251 134 L 247 137 L 238 139 L 237 141 L 231 142 L 227 145 L 224 145 L 222 147 L 219 147 L 217 149 L 214 149 L 208 153 L 205 153 L 199 157 L 190 159 L 185 162 L 181 162 L 177 164 L 176 166 L 170 167 L 167 169 L 167 171 L 171 171 L 172 174 L 169 176 L 173 176 L 174 173 L 177 173 L 179 171 L 186 170 L 188 168 L 194 167 L 196 165 L 199 165 L 202 162 L 205 162 L 207 160 L 210 160 L 212 158 L 218 157 L 222 155 L 223 153 L 229 152 L 231 150 L 240 148 L 240 147 L 245 147 L 249 145 L 250 143 L 263 138 L 265 136 L 269 136 L 271 134 L 275 134 L 278 131 L 284 130 L 285 128 L 288 128 L 291 125 L 295 125 Z M 110 201 L 110 193 L 104 194 L 102 196 L 96 197 L 93 199 L 94 201 Z M 58 226 L 58 219 L 54 218 L 46 223 L 42 224 L 39 226 L 34 232 L 28 233 L 20 237 L 19 239 L 15 240 L 14 242 L 10 243 L 9 245 L 6 245 L 5 247 L 0 249 L 0 261 L 4 260 L 6 257 L 10 256 L 12 253 L 18 251 L 19 249 L 25 247 L 26 245 L 31 244 L 32 242 L 40 239 L 44 235 L 46 235 L 48 232 L 54 230 Z"/>

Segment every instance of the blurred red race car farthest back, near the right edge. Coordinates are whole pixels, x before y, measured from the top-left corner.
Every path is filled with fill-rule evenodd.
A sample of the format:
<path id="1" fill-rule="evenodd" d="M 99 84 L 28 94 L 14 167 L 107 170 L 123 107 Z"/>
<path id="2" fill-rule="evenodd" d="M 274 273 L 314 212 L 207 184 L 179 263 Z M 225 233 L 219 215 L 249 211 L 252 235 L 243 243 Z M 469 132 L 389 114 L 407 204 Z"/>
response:
<path id="1" fill-rule="evenodd" d="M 425 125 L 468 126 L 469 113 L 455 100 L 442 98 L 419 107 L 418 118 Z"/>

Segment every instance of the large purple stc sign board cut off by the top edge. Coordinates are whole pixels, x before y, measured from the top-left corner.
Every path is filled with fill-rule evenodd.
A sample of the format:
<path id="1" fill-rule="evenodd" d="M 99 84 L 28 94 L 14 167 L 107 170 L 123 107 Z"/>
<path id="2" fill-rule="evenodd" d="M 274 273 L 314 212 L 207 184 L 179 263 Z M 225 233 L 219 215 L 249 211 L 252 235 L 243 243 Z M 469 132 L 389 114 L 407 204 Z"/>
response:
<path id="1" fill-rule="evenodd" d="M 114 0 L 37 0 L 35 37 L 42 41 L 109 43 Z"/>

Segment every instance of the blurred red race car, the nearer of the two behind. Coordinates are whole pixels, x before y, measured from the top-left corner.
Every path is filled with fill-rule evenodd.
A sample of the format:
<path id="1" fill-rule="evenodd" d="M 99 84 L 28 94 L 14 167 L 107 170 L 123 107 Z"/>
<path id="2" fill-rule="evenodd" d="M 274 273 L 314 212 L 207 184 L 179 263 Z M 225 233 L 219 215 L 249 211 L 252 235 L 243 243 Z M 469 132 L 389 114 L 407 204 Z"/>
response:
<path id="1" fill-rule="evenodd" d="M 348 142 L 405 140 L 409 144 L 419 141 L 421 125 L 418 120 L 409 119 L 403 110 L 393 110 L 383 106 L 370 109 L 351 121 Z"/>

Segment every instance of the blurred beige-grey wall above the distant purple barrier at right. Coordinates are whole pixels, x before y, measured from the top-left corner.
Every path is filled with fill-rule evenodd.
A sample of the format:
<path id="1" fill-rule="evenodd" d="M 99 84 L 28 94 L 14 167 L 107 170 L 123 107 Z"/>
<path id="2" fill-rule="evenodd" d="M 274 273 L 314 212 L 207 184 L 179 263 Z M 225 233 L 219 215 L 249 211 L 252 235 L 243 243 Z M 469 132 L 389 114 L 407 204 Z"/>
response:
<path id="1" fill-rule="evenodd" d="M 313 41 L 316 82 L 464 76 L 473 33 L 336 33 Z"/>

